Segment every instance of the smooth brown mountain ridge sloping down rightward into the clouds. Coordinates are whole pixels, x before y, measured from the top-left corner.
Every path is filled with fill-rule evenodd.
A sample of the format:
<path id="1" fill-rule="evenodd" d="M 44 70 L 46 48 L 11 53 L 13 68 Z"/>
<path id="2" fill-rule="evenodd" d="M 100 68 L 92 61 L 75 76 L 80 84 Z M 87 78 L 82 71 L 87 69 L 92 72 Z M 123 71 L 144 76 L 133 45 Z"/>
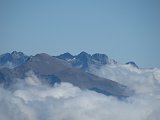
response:
<path id="1" fill-rule="evenodd" d="M 90 55 L 86 57 L 84 54 L 80 56 L 87 60 L 90 57 Z M 102 93 L 106 95 L 116 97 L 127 97 L 130 95 L 129 89 L 124 85 L 83 72 L 71 66 L 67 61 L 51 57 L 45 53 L 30 57 L 24 64 L 14 69 L 1 69 L 0 82 L 7 86 L 14 82 L 14 78 L 24 78 L 25 73 L 28 71 L 33 71 L 38 77 L 46 78 L 46 81 L 51 85 L 55 82 L 69 82 L 81 89 L 103 91 Z"/>

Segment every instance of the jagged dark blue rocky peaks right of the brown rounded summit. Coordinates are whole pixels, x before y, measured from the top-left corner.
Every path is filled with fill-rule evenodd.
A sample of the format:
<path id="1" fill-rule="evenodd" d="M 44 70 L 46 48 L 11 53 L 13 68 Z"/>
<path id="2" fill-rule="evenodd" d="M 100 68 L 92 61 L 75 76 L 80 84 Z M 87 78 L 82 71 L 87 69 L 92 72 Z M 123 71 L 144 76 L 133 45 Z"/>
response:
<path id="1" fill-rule="evenodd" d="M 73 67 L 79 68 L 83 71 L 88 71 L 89 67 L 94 65 L 95 67 L 100 67 L 102 65 L 106 64 L 116 64 L 117 62 L 115 60 L 109 59 L 107 55 L 105 54 L 93 54 L 90 55 L 86 52 L 81 52 L 80 54 L 76 56 L 72 56 L 70 54 L 70 57 L 68 59 L 68 56 L 66 56 L 67 53 L 62 54 L 60 56 L 57 56 L 57 58 L 60 58 L 62 60 L 67 60 Z"/>

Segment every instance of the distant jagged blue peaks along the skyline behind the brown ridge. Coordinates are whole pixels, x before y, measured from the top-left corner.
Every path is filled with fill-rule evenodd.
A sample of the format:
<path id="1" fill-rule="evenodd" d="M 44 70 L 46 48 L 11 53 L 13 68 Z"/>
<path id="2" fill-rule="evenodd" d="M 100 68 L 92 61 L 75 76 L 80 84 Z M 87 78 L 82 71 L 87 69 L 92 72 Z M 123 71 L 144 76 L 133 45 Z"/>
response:
<path id="1" fill-rule="evenodd" d="M 37 57 L 49 57 L 46 53 L 40 53 L 35 55 Z M 27 56 L 23 52 L 13 51 L 0 55 L 0 68 L 14 68 L 21 64 L 24 64 L 27 60 L 30 60 L 33 56 Z M 82 51 L 78 55 L 72 55 L 69 52 L 61 54 L 59 56 L 53 56 L 54 58 L 65 60 L 69 62 L 73 67 L 79 68 L 84 71 L 88 71 L 90 66 L 101 67 L 103 65 L 117 64 L 114 59 L 110 59 L 105 54 L 95 53 L 93 55 Z M 130 64 L 136 68 L 138 66 L 135 62 L 130 61 L 126 64 Z"/>

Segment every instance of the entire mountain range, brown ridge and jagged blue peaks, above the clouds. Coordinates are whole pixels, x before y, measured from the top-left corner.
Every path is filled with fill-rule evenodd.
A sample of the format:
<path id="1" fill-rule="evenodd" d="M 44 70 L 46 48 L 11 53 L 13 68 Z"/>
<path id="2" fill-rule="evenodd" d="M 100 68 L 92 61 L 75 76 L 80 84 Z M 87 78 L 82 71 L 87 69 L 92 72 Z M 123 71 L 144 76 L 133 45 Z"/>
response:
<path id="1" fill-rule="evenodd" d="M 22 52 L 13 51 L 0 56 L 0 83 L 7 88 L 16 82 L 16 78 L 23 79 L 27 72 L 32 71 L 42 79 L 42 82 L 51 86 L 55 83 L 69 82 L 81 89 L 89 89 L 105 95 L 118 98 L 129 96 L 133 91 L 127 86 L 88 72 L 90 66 L 101 67 L 106 64 L 117 64 L 117 62 L 99 53 L 90 55 L 81 52 L 75 56 L 70 53 L 59 56 L 41 53 L 27 56 Z M 126 64 L 138 68 L 134 62 Z"/>

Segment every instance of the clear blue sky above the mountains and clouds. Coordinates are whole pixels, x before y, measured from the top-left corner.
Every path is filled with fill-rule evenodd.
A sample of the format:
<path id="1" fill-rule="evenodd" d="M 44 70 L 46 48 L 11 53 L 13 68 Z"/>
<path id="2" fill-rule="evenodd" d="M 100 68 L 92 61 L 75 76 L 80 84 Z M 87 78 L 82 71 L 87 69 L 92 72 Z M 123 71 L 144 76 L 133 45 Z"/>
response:
<path id="1" fill-rule="evenodd" d="M 160 67 L 159 0 L 0 0 L 0 54 L 105 53 Z"/>

